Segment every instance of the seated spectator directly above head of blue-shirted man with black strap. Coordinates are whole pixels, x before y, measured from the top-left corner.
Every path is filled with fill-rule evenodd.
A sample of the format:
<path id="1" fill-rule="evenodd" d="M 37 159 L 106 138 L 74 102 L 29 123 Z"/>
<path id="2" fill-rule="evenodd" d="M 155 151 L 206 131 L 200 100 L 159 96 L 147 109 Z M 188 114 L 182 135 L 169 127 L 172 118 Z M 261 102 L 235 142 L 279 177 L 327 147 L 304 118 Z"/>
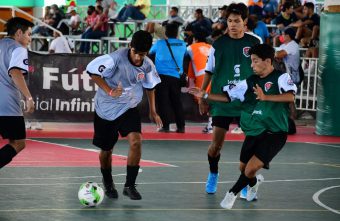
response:
<path id="1" fill-rule="evenodd" d="M 165 38 L 165 26 L 167 24 L 177 24 L 178 26 L 183 25 L 184 19 L 178 15 L 178 8 L 171 7 L 169 12 L 169 18 L 162 22 L 162 24 L 148 22 L 145 27 L 145 31 L 155 34 L 155 36 L 159 39 Z"/>

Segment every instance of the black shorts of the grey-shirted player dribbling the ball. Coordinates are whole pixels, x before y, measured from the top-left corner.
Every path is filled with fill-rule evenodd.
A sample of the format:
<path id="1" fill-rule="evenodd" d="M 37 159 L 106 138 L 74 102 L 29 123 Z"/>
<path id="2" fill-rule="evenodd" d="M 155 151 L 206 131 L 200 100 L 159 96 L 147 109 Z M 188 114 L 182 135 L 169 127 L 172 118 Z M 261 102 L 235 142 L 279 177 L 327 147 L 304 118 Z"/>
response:
<path id="1" fill-rule="evenodd" d="M 127 110 L 113 121 L 104 120 L 95 113 L 92 143 L 102 150 L 109 151 L 117 143 L 119 134 L 126 137 L 131 132 L 141 133 L 141 131 L 141 118 L 136 107 Z"/>

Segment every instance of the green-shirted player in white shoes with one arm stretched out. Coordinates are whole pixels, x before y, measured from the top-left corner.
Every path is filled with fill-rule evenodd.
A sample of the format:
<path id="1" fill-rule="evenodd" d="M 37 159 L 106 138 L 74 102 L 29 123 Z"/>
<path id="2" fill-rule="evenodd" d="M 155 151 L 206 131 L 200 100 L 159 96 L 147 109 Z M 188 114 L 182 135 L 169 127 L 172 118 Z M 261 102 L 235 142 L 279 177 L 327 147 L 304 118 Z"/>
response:
<path id="1" fill-rule="evenodd" d="M 233 207 L 237 194 L 247 185 L 247 200 L 256 197 L 263 182 L 257 172 L 261 168 L 269 169 L 270 161 L 287 140 L 289 103 L 294 102 L 297 88 L 288 73 L 274 70 L 274 53 L 269 45 L 253 46 L 249 54 L 255 75 L 224 86 L 221 93 L 208 94 L 198 88 L 189 90 L 203 99 L 242 102 L 241 128 L 246 138 L 240 153 L 241 175 L 220 204 L 226 209 Z"/>

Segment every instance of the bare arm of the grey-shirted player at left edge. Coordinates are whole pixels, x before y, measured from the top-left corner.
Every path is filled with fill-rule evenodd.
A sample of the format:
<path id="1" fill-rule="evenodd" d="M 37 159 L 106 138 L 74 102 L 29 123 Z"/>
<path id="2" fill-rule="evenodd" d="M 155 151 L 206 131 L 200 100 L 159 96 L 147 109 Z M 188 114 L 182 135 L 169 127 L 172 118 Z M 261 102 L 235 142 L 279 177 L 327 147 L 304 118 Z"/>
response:
<path id="1" fill-rule="evenodd" d="M 33 113 L 34 111 L 34 101 L 30 91 L 28 90 L 27 84 L 25 82 L 25 78 L 22 75 L 22 71 L 20 69 L 13 68 L 9 71 L 9 74 L 12 77 L 12 80 L 19 91 L 25 96 L 26 104 L 27 104 L 27 112 Z"/>

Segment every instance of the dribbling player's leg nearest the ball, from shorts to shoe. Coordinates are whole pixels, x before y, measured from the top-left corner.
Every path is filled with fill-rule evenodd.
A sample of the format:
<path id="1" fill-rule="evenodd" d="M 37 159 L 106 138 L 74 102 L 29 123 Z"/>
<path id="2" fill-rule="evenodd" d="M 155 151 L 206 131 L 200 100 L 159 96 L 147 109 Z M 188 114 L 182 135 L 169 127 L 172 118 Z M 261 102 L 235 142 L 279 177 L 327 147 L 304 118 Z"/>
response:
<path id="1" fill-rule="evenodd" d="M 93 144 L 100 148 L 99 162 L 105 195 L 108 198 L 118 198 L 118 192 L 112 178 L 112 149 L 118 140 L 118 131 L 114 127 L 115 121 L 94 117 Z"/>

